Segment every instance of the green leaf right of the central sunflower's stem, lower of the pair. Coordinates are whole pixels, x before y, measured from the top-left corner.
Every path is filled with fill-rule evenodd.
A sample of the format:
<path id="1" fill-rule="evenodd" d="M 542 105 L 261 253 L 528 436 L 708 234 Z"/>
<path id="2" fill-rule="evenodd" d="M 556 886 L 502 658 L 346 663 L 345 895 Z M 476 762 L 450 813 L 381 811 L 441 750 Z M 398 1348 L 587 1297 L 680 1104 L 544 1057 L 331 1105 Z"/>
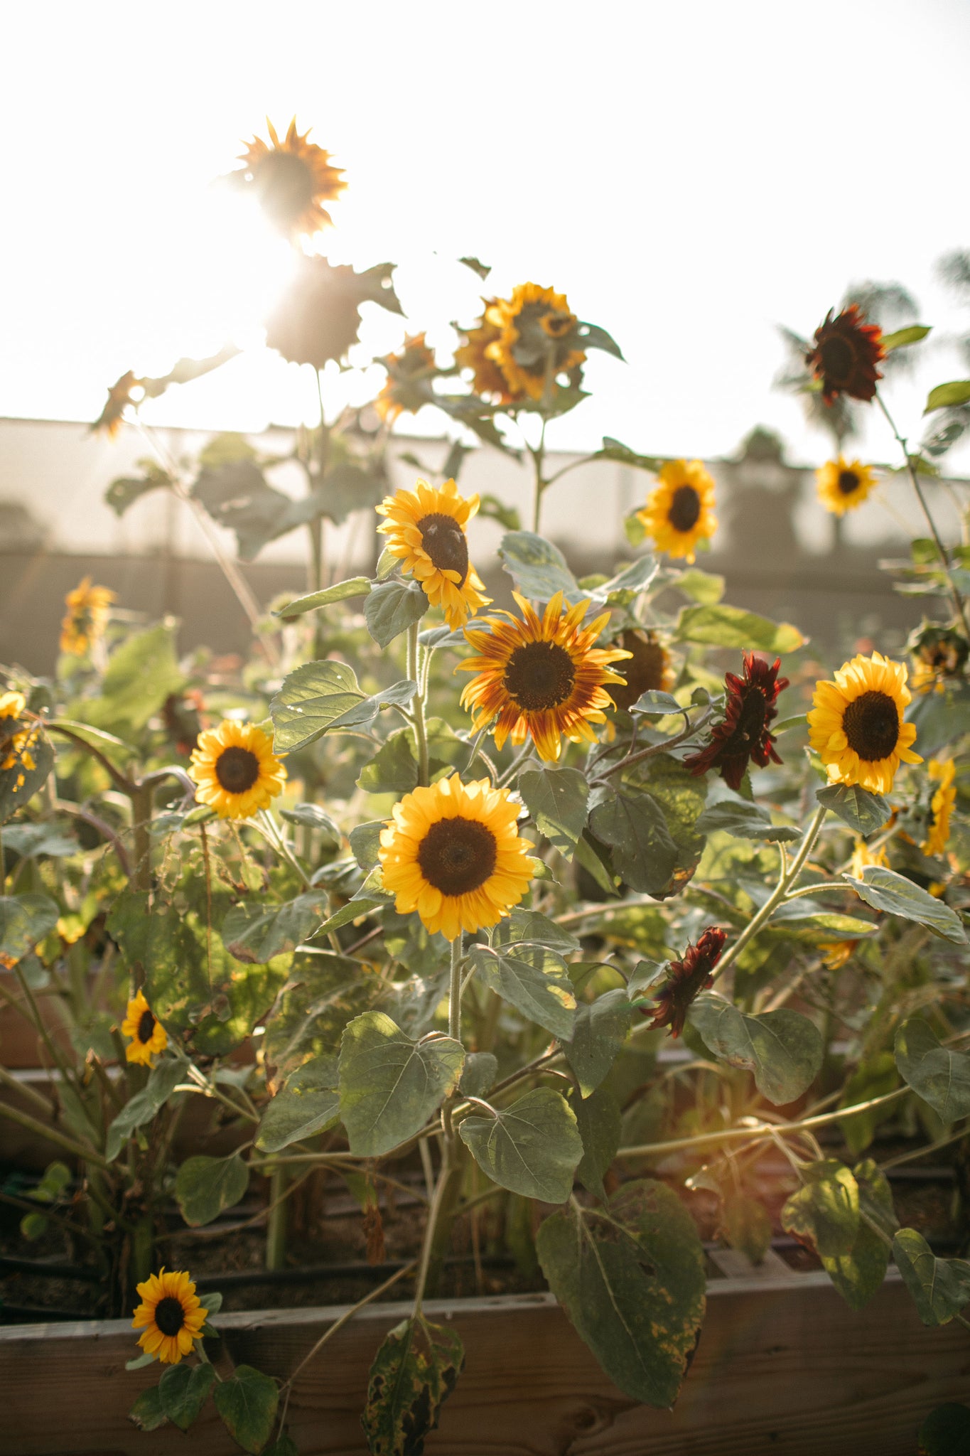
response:
<path id="1" fill-rule="evenodd" d="M 534 1088 L 493 1117 L 465 1117 L 458 1134 L 478 1168 L 500 1188 L 542 1203 L 566 1203 L 583 1142 L 569 1102 Z"/>

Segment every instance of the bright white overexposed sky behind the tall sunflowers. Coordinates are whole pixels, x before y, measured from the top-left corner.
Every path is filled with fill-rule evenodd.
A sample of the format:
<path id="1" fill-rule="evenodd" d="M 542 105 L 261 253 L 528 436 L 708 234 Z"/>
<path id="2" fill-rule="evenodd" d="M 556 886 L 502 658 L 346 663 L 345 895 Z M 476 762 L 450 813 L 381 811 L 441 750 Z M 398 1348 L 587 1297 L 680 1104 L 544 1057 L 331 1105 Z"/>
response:
<path id="1" fill-rule="evenodd" d="M 628 363 L 592 357 L 593 399 L 554 444 L 716 456 L 763 422 L 825 459 L 771 389 L 775 323 L 809 335 L 870 277 L 905 282 L 938 333 L 970 328 L 934 280 L 970 246 L 969 64 L 966 0 L 7 0 L 0 415 L 93 419 L 125 368 L 234 336 L 243 360 L 145 418 L 310 418 L 310 371 L 259 342 L 285 245 L 211 185 L 266 114 L 295 112 L 346 167 L 329 255 L 397 261 L 412 331 L 451 347 L 480 291 L 454 259 L 476 253 L 493 291 L 554 285 L 614 333 Z M 401 320 L 365 313 L 362 357 L 394 348 Z M 941 339 L 894 383 L 905 428 L 961 373 Z"/>

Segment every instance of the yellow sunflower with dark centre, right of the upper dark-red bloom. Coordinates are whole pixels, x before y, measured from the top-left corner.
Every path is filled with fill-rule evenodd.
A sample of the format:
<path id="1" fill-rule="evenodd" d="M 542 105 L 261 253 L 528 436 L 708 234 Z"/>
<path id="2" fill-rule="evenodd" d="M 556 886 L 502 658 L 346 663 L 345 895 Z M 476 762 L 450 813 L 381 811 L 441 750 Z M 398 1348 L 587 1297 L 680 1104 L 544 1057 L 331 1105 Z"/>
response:
<path id="1" fill-rule="evenodd" d="M 913 724 L 903 722 L 910 702 L 906 665 L 880 652 L 843 662 L 833 681 L 816 683 L 809 741 L 830 783 L 859 783 L 887 794 L 900 763 L 922 763 L 912 751 Z"/>

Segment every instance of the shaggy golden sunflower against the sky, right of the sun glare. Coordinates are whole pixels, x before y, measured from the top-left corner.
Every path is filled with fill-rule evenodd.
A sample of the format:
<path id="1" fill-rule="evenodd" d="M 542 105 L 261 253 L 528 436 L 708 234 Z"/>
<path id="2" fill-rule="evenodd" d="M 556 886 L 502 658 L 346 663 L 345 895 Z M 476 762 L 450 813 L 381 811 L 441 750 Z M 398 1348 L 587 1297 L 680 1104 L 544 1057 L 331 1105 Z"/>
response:
<path id="1" fill-rule="evenodd" d="M 577 368 L 586 358 L 579 348 L 579 319 L 564 293 L 521 282 L 510 298 L 496 298 L 486 322 L 499 336 L 486 345 L 486 358 L 499 365 L 513 396 L 541 399 L 547 381 Z"/>

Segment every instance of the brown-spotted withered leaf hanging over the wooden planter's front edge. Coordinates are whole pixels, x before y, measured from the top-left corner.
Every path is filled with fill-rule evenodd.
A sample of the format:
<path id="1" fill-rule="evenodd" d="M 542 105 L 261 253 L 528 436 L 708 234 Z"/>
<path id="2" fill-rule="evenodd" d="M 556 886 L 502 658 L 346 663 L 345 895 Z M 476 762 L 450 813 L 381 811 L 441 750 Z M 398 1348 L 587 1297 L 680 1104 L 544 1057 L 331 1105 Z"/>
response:
<path id="1" fill-rule="evenodd" d="M 464 1363 L 457 1331 L 420 1316 L 396 1325 L 374 1357 L 361 1417 L 371 1456 L 422 1456 Z"/>

